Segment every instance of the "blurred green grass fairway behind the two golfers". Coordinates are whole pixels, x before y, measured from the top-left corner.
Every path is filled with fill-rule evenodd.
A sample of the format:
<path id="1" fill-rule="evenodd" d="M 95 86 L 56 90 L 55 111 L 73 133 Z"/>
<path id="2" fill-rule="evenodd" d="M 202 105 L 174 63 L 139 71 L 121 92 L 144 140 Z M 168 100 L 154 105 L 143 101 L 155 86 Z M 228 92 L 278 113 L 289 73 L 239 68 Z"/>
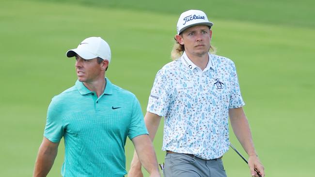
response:
<path id="1" fill-rule="evenodd" d="M 30 177 L 51 98 L 74 85 L 65 52 L 86 37 L 111 47 L 106 76 L 133 92 L 145 112 L 155 74 L 171 61 L 181 12 L 202 9 L 212 44 L 236 63 L 256 150 L 267 177 L 311 177 L 315 166 L 315 1 L 1 0 L 0 177 Z M 164 161 L 161 123 L 154 145 Z M 231 142 L 245 156 L 232 129 Z M 59 177 L 63 140 L 49 177 Z M 126 145 L 129 169 L 133 146 Z M 250 177 L 230 149 L 228 177 Z M 148 174 L 145 173 L 148 177 Z"/>

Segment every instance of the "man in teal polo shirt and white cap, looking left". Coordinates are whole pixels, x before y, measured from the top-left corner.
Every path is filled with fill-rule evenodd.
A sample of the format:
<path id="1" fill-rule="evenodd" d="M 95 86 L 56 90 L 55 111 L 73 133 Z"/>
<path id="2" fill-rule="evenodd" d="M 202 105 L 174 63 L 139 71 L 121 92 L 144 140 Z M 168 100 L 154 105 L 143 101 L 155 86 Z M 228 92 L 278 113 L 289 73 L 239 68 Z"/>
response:
<path id="1" fill-rule="evenodd" d="M 34 177 L 48 174 L 62 138 L 63 177 L 123 177 L 126 137 L 133 142 L 151 177 L 159 177 L 139 101 L 105 78 L 109 45 L 100 37 L 90 37 L 66 55 L 76 57 L 78 81 L 49 104 Z"/>

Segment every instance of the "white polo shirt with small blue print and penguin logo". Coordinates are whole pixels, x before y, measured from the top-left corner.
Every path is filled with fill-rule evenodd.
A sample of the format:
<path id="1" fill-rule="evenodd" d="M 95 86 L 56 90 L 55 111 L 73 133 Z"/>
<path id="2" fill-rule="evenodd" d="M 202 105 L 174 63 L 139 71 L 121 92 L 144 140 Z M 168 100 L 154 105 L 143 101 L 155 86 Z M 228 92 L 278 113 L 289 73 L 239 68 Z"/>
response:
<path id="1" fill-rule="evenodd" d="M 229 148 L 229 108 L 245 105 L 232 60 L 209 54 L 202 71 L 184 54 L 157 72 L 147 111 L 164 116 L 162 150 L 209 160 Z"/>

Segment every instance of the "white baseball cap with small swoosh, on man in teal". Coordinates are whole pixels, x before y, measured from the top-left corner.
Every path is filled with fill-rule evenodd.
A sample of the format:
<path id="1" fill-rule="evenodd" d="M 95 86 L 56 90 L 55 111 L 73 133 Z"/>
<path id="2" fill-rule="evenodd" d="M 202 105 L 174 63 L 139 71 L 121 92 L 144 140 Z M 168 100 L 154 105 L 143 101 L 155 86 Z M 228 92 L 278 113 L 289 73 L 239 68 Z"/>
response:
<path id="1" fill-rule="evenodd" d="M 78 54 L 83 59 L 94 59 L 100 57 L 110 62 L 110 45 L 101 37 L 89 37 L 84 39 L 77 48 L 68 50 L 67 57 Z"/>

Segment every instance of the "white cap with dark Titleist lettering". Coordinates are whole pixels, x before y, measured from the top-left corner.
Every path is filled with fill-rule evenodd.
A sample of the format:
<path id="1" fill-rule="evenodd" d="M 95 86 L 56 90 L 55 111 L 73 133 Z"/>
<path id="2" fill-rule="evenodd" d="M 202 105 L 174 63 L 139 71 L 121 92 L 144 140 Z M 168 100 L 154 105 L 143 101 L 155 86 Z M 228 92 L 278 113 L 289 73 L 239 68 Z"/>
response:
<path id="1" fill-rule="evenodd" d="M 178 19 L 177 22 L 177 34 L 180 34 L 185 29 L 188 29 L 191 26 L 195 25 L 206 25 L 210 28 L 213 23 L 210 22 L 207 18 L 207 15 L 203 11 L 200 10 L 189 10 L 183 12 Z"/>

